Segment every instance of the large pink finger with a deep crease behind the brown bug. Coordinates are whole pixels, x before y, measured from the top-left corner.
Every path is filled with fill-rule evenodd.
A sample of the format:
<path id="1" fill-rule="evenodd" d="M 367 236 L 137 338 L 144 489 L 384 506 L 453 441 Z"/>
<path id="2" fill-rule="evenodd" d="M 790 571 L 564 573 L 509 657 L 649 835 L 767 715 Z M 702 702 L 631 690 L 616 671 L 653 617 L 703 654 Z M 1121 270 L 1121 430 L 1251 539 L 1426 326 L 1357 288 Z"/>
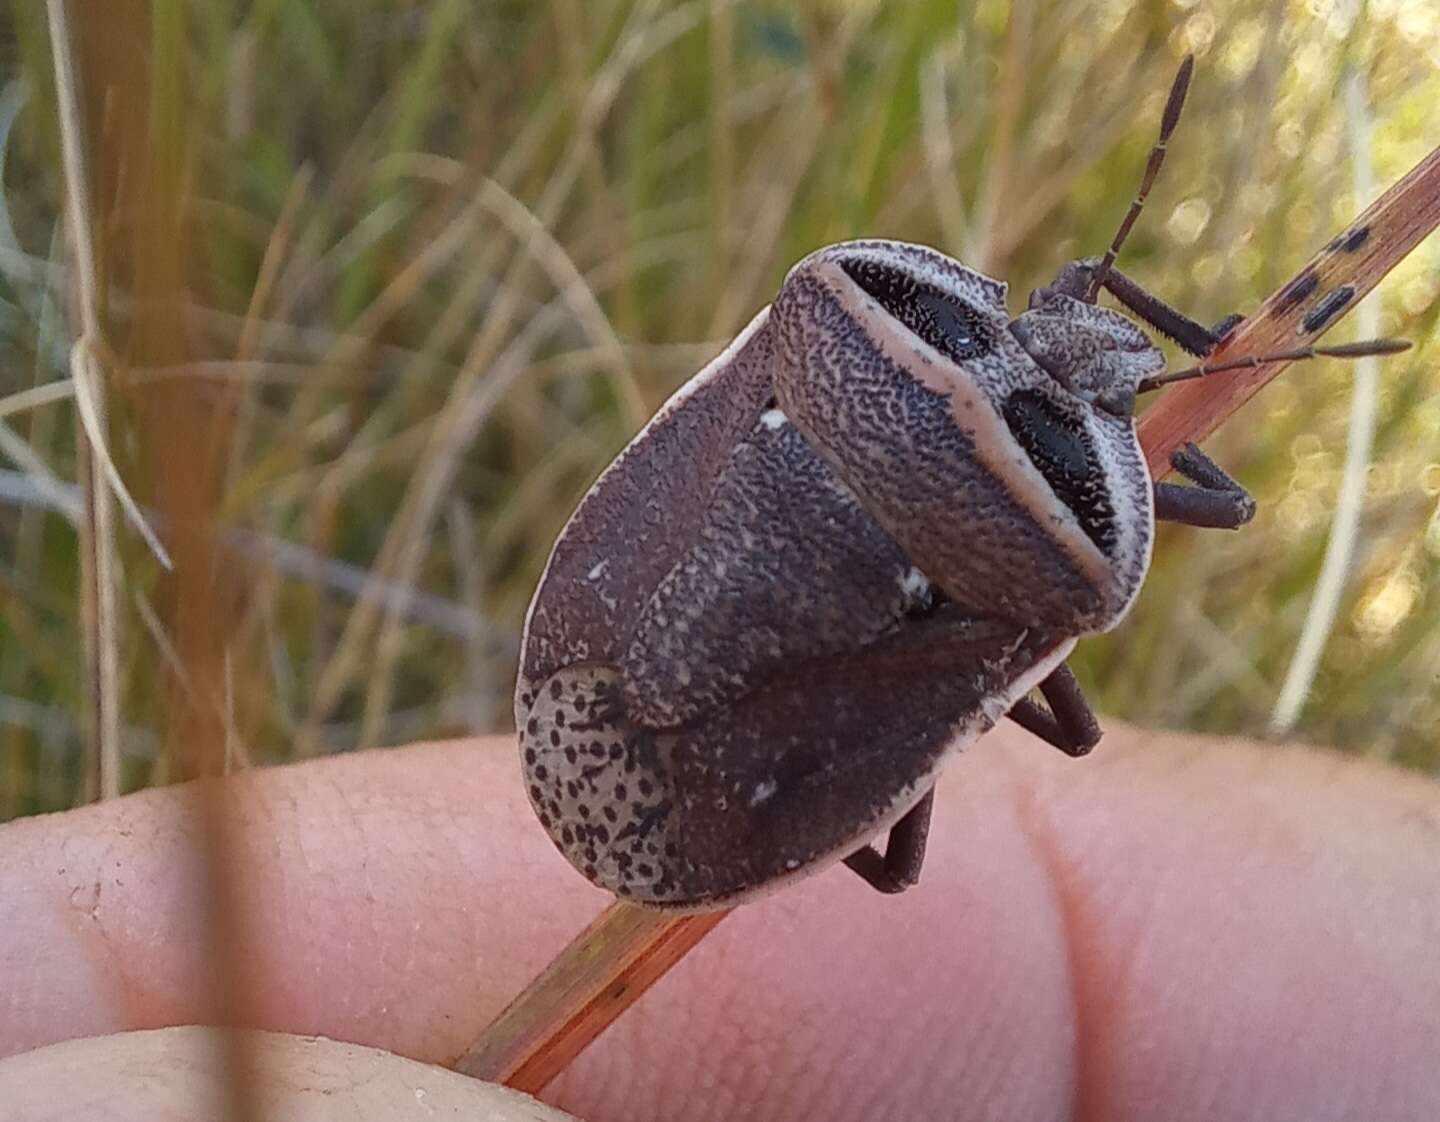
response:
<path id="1" fill-rule="evenodd" d="M 510 737 L 226 791 L 259 1027 L 449 1060 L 608 899 L 533 820 Z M 170 788 L 0 827 L 0 1054 L 203 1015 L 193 807 Z M 832 869 L 740 909 L 541 1098 L 590 1119 L 1433 1119 L 1437 869 L 1418 776 L 1125 727 L 1068 760 L 1002 726 L 946 772 L 919 889 Z"/>

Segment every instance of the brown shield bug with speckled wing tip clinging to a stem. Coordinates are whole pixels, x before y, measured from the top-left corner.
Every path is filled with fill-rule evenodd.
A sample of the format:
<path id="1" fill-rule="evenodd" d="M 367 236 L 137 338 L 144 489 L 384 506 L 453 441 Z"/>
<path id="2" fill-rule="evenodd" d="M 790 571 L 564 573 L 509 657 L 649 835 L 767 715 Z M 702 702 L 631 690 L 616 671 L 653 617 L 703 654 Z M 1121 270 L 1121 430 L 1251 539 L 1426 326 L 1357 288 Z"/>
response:
<path id="1" fill-rule="evenodd" d="M 1096 302 L 1197 356 L 1233 323 L 1113 265 L 1189 75 L 1107 253 L 1021 315 L 933 249 L 821 249 L 585 495 L 530 606 L 516 722 L 540 821 L 592 881 L 700 910 L 844 858 L 896 892 L 939 769 L 996 720 L 1099 740 L 1064 660 L 1129 609 L 1155 520 L 1254 514 L 1195 446 L 1174 464 L 1192 485 L 1152 484 L 1136 392 L 1221 367 L 1162 374 Z"/>

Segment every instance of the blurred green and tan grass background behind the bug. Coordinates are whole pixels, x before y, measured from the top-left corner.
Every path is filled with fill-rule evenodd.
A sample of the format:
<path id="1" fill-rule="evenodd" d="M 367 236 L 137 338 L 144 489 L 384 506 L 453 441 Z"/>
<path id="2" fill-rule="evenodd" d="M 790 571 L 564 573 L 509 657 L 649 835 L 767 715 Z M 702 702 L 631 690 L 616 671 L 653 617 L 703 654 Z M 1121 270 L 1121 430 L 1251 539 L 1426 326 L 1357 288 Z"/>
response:
<path id="1" fill-rule="evenodd" d="M 1123 215 L 1202 321 L 1440 143 L 1433 0 L 73 0 L 117 533 L 121 786 L 510 722 L 523 614 L 585 488 L 808 251 L 937 245 L 1018 308 Z M 0 820 L 84 798 L 78 323 L 45 6 L 0 16 Z M 1440 768 L 1440 245 L 1382 285 L 1358 552 L 1296 735 Z M 1335 338 L 1351 337 L 1344 326 Z M 1309 608 L 1351 372 L 1211 444 L 1261 503 L 1166 530 L 1076 668 L 1102 710 L 1263 733 Z M 98 547 L 98 546 L 96 546 Z"/>

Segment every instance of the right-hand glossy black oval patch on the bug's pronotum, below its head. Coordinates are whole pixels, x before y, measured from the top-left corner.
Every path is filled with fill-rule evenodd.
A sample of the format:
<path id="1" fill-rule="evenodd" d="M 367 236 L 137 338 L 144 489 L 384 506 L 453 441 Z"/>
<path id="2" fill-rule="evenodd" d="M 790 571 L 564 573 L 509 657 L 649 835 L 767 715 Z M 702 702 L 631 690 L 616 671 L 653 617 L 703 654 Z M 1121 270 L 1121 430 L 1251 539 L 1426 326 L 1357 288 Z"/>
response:
<path id="1" fill-rule="evenodd" d="M 1040 390 L 1015 390 L 1005 399 L 1004 413 L 1011 434 L 1080 520 L 1080 529 L 1109 552 L 1116 542 L 1115 507 L 1090 438 Z"/>

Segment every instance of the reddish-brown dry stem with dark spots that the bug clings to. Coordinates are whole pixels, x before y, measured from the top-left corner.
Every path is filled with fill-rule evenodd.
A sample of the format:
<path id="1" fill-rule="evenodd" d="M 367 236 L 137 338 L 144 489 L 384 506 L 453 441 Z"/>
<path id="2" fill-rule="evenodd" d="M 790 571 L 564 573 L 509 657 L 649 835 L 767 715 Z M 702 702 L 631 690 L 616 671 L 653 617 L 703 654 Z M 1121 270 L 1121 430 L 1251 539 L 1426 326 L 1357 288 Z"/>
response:
<path id="1" fill-rule="evenodd" d="M 1440 226 L 1440 150 L 1331 241 L 1217 354 L 1238 359 L 1313 343 L 1436 226 Z M 1345 290 L 1351 294 L 1338 300 L 1335 294 Z M 1326 308 L 1329 315 L 1318 323 Z M 1214 432 L 1282 369 L 1282 363 L 1267 364 L 1166 393 L 1140 422 L 1140 442 L 1152 474 L 1165 475 L 1175 449 Z M 455 1066 L 478 1079 L 539 1090 L 726 915 L 672 919 L 629 905 L 611 905 L 510 1002 Z"/>

